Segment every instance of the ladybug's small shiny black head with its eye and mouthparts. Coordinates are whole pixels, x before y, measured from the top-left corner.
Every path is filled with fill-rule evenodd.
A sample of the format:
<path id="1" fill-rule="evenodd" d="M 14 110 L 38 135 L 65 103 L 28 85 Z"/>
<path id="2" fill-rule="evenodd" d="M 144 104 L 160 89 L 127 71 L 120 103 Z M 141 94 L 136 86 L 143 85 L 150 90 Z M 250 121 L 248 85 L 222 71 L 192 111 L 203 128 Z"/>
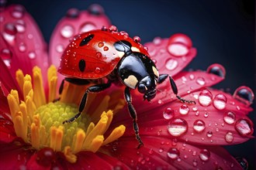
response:
<path id="1" fill-rule="evenodd" d="M 157 77 L 154 75 L 145 76 L 144 79 L 140 80 L 137 89 L 140 93 L 144 93 L 144 100 L 152 100 L 157 94 Z"/>

